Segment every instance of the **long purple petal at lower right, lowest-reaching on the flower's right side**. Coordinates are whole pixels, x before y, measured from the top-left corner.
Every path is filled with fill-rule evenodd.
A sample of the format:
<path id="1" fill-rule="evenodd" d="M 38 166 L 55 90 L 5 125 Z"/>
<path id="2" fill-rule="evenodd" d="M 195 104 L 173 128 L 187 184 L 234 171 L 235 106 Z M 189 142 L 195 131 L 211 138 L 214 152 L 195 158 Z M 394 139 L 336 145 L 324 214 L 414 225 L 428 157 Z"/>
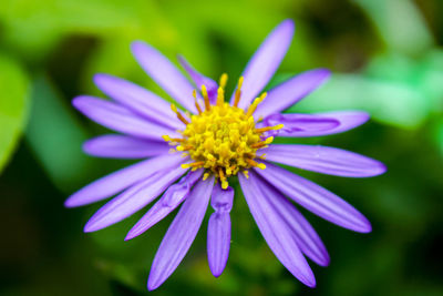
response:
<path id="1" fill-rule="evenodd" d="M 239 174 L 238 180 L 250 213 L 270 249 L 295 277 L 305 285 L 315 287 L 316 278 L 291 231 L 269 202 L 274 196 L 268 196 L 267 192 L 258 190 L 261 181 L 254 171 L 250 171 L 249 178 Z"/>

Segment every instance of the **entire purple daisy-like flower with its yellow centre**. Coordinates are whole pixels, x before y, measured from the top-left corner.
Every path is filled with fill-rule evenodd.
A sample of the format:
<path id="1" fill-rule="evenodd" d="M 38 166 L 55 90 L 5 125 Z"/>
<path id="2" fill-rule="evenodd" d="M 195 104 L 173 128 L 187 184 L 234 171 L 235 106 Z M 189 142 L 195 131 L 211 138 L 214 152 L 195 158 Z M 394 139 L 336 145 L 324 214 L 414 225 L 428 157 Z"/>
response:
<path id="1" fill-rule="evenodd" d="M 136 84 L 107 74 L 95 75 L 94 82 L 112 101 L 87 95 L 73 100 L 84 115 L 120 133 L 87 141 L 83 146 L 87 154 L 146 159 L 68 198 L 65 205 L 74 207 L 116 195 L 90 218 L 85 232 L 113 225 L 163 194 L 128 232 L 125 239 L 131 239 L 181 206 L 155 255 L 150 290 L 162 285 L 182 262 L 209 204 L 214 213 L 207 229 L 208 263 L 214 276 L 223 273 L 229 254 L 234 202 L 228 182 L 236 176 L 269 247 L 307 286 L 316 286 L 316 279 L 306 257 L 327 266 L 329 254 L 290 200 L 341 227 L 371 231 L 369 221 L 339 196 L 274 164 L 348 177 L 385 172 L 382 163 L 340 149 L 271 144 L 275 136 L 344 132 L 369 119 L 360 111 L 280 113 L 320 86 L 330 75 L 326 69 L 303 72 L 259 94 L 284 59 L 293 30 L 293 22 L 286 20 L 267 37 L 247 64 L 230 103 L 225 102 L 226 74 L 217 83 L 181 57 L 181 64 L 200 90 L 197 92 L 173 63 L 141 41 L 132 44 L 135 59 L 185 112 Z"/>

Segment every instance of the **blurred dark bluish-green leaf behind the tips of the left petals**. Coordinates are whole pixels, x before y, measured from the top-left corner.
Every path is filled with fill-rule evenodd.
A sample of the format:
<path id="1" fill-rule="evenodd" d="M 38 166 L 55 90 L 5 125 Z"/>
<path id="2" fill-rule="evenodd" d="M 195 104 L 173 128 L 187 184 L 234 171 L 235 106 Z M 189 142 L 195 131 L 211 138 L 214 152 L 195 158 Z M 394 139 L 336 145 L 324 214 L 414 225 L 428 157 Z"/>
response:
<path id="1" fill-rule="evenodd" d="M 96 171 L 93 159 L 81 150 L 89 134 L 48 78 L 40 75 L 33 84 L 27 140 L 51 181 L 70 193 L 86 183 L 91 171 Z"/>

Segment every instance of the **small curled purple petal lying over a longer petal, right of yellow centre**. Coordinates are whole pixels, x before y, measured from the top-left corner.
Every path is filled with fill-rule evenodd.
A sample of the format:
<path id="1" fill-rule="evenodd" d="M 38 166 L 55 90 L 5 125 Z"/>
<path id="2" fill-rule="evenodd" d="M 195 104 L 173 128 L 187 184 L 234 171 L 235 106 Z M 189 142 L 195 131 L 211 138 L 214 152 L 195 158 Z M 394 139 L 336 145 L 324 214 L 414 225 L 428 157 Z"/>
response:
<path id="1" fill-rule="evenodd" d="M 313 136 L 329 133 L 340 125 L 333 118 L 320 116 L 317 114 L 272 114 L 267 116 L 260 126 L 274 126 L 284 124 L 278 131 L 269 132 L 269 135 L 278 136 Z"/>

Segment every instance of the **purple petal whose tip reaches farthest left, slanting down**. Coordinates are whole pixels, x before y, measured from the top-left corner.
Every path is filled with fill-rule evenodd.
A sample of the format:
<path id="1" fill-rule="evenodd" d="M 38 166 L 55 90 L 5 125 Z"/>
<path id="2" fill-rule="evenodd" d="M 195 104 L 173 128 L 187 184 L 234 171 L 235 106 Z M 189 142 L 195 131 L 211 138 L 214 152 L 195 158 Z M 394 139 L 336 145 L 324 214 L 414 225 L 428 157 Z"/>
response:
<path id="1" fill-rule="evenodd" d="M 64 203 L 68 207 L 81 206 L 107 198 L 154 173 L 186 162 L 179 154 L 166 154 L 142 161 L 94 181 L 72 194 Z"/>

